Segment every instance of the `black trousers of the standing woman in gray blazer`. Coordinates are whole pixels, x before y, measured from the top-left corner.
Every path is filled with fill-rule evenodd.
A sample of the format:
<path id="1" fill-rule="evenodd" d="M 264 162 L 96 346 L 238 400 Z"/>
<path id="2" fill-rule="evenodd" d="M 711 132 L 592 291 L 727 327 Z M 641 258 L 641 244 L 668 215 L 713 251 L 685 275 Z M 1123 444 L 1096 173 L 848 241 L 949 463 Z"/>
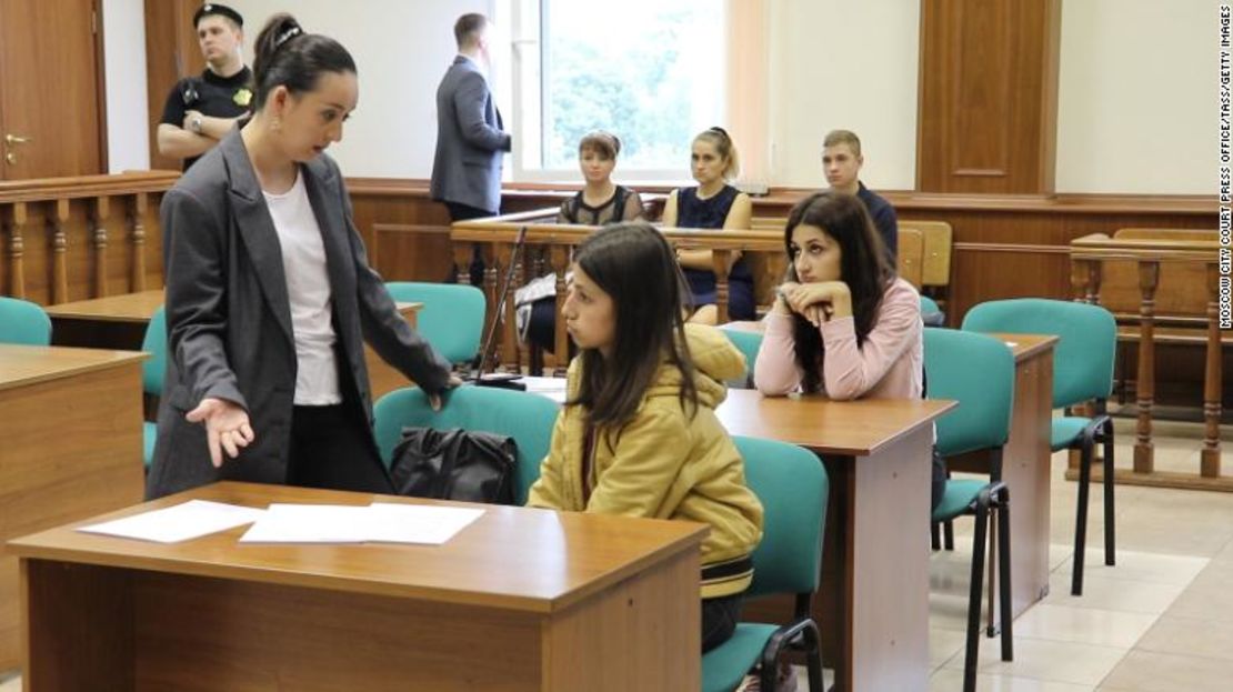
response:
<path id="1" fill-rule="evenodd" d="M 393 493 L 363 417 L 351 406 L 295 407 L 287 485 Z"/>

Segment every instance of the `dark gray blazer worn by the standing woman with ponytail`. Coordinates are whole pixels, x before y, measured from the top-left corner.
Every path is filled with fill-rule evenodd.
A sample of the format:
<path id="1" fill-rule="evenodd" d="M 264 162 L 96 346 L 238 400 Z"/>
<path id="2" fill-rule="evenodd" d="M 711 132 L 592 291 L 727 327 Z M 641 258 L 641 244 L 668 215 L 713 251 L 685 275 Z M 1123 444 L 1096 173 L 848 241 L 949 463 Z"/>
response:
<path id="1" fill-rule="evenodd" d="M 449 365 L 369 268 L 338 164 L 321 155 L 300 173 L 326 247 L 340 384 L 359 392 L 371 423 L 364 339 L 428 392 L 445 387 Z M 296 389 L 291 305 L 279 237 L 239 130 L 184 174 L 160 213 L 168 363 L 145 495 L 218 480 L 285 482 Z M 184 419 L 205 397 L 243 406 L 255 434 L 219 469 L 210 463 L 205 426 Z"/>

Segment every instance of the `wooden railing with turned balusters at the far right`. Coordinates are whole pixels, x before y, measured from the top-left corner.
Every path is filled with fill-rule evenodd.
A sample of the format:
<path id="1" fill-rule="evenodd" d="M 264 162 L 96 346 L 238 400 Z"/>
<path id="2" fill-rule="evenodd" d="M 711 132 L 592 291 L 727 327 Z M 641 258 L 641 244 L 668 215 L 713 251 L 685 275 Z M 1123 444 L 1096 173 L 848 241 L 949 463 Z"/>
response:
<path id="1" fill-rule="evenodd" d="M 1095 233 L 1070 243 L 1070 279 L 1076 300 L 1105 305 L 1118 318 L 1120 339 L 1138 342 L 1134 466 L 1129 474 L 1120 474 L 1120 481 L 1233 491 L 1233 479 L 1221 476 L 1226 339 L 1218 315 L 1218 248 L 1215 231 L 1179 229 L 1123 229 L 1112 238 Z M 1161 285 L 1165 290 L 1158 294 Z M 1137 306 L 1129 301 L 1132 286 L 1137 289 Z M 1132 307 L 1137 311 L 1132 312 Z M 1205 438 L 1198 476 L 1157 471 L 1154 466 L 1152 417 L 1160 343 L 1206 348 Z"/>

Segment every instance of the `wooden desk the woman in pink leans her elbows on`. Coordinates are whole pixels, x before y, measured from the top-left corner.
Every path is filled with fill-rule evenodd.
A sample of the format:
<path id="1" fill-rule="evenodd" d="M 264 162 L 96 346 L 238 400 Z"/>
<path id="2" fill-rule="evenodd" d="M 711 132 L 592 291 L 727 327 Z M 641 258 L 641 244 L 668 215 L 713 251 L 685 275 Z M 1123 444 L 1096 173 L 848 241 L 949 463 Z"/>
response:
<path id="1" fill-rule="evenodd" d="M 928 687 L 928 514 L 933 427 L 948 401 L 763 397 L 730 390 L 727 432 L 820 455 L 831 481 L 814 618 L 840 690 Z M 787 599 L 750 619 L 785 622 Z"/>

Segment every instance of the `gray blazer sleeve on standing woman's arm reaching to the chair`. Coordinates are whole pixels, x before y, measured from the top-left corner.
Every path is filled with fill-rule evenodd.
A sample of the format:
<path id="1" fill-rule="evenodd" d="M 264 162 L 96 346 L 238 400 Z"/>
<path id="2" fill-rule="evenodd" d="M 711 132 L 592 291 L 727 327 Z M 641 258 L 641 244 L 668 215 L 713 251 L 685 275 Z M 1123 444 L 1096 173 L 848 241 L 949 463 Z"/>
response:
<path id="1" fill-rule="evenodd" d="M 342 204 L 346 218 L 346 237 L 351 244 L 351 255 L 355 258 L 355 281 L 364 339 L 372 345 L 382 360 L 397 368 L 422 390 L 428 393 L 438 393 L 445 389 L 449 381 L 450 365 L 433 349 L 432 344 L 407 324 L 407 321 L 398 313 L 381 276 L 369 266 L 364 242 L 360 239 L 360 233 L 355 229 L 355 221 L 351 217 L 350 195 L 342 181 L 342 173 L 339 173 L 337 164 L 332 162 L 332 165 L 334 165 L 334 174 L 338 175 L 339 192 L 343 197 Z"/>

